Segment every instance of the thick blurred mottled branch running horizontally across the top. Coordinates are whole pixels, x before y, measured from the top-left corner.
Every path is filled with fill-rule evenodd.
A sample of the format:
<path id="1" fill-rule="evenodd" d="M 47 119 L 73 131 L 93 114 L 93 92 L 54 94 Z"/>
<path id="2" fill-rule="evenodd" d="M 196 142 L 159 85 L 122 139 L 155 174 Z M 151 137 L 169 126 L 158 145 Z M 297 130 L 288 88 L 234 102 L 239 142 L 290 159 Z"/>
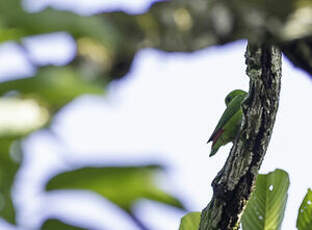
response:
<path id="1" fill-rule="evenodd" d="M 283 7 L 278 7 L 281 4 Z M 112 25 L 119 34 L 119 45 L 129 52 L 144 47 L 191 52 L 246 38 L 287 41 L 285 27 L 293 11 L 292 0 L 252 4 L 249 0 L 173 0 L 155 2 L 143 14 L 112 12 L 100 16 Z"/>

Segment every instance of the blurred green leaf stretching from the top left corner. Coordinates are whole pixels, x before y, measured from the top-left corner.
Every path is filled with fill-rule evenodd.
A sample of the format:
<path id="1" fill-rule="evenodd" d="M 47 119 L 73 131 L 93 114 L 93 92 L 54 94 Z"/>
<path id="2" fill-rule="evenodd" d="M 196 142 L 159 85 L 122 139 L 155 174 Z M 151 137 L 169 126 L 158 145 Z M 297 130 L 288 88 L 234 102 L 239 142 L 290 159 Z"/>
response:
<path id="1" fill-rule="evenodd" d="M 116 37 L 118 35 L 116 29 L 99 16 L 80 16 L 51 8 L 29 13 L 22 8 L 21 2 L 21 0 L 0 0 L 0 23 L 4 29 L 14 29 L 14 32 L 0 36 L 2 41 L 6 38 L 21 39 L 21 36 L 59 31 L 66 31 L 75 38 L 92 37 L 110 48 L 117 47 L 120 40 Z"/>

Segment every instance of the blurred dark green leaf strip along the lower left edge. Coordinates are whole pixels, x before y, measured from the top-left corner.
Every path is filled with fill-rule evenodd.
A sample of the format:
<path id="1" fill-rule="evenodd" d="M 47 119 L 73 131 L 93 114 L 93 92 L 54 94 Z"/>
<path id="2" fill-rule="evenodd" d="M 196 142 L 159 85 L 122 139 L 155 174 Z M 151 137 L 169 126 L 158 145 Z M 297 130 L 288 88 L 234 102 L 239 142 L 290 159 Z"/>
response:
<path id="1" fill-rule="evenodd" d="M 14 161 L 11 154 L 15 154 L 18 142 L 14 139 L 0 139 L 0 217 L 15 224 L 15 210 L 11 197 L 11 188 L 20 162 Z"/>

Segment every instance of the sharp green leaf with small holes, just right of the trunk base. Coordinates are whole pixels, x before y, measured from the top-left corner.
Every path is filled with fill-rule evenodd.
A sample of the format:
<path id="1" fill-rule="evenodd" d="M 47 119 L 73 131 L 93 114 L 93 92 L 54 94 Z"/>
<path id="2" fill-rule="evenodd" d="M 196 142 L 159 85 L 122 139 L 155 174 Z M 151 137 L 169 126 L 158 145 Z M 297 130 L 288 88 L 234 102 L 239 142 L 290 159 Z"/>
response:
<path id="1" fill-rule="evenodd" d="M 276 169 L 260 174 L 242 216 L 243 230 L 279 230 L 284 217 L 289 177 Z"/>

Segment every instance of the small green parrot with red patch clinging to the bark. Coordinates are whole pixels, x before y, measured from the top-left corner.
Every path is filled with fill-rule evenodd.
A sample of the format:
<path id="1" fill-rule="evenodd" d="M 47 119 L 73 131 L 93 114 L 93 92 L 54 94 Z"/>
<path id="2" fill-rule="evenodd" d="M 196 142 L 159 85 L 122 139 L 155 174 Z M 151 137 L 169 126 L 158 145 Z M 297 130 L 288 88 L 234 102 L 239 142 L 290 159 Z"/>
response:
<path id="1" fill-rule="evenodd" d="M 241 104 L 247 93 L 236 89 L 225 98 L 226 109 L 207 143 L 212 141 L 210 157 L 215 155 L 222 145 L 234 141 L 242 121 Z"/>

